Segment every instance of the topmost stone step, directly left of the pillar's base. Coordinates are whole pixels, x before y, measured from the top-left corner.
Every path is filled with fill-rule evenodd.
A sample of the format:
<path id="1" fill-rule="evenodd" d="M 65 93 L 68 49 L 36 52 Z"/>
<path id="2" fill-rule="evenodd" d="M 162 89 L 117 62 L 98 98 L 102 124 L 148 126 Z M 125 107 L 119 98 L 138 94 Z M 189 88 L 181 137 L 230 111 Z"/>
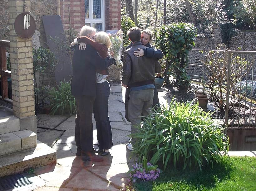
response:
<path id="1" fill-rule="evenodd" d="M 13 115 L 0 117 L 0 135 L 20 130 L 20 119 Z"/>

